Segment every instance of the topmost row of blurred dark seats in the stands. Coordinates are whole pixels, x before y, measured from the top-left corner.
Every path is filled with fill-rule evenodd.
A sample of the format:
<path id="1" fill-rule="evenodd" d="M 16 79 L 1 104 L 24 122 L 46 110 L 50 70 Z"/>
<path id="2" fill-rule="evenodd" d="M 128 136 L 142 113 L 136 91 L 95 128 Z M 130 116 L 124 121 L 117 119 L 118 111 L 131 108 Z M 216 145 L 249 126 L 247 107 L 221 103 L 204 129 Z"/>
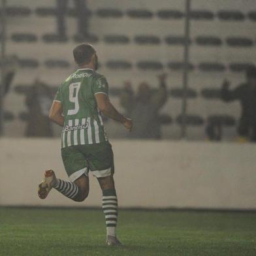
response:
<path id="1" fill-rule="evenodd" d="M 6 10 L 8 16 L 29 16 L 33 11 L 34 10 L 29 7 L 7 7 Z M 35 14 L 41 17 L 54 16 L 57 14 L 57 9 L 53 7 L 39 7 L 35 8 Z M 185 16 L 183 11 L 172 9 L 152 12 L 147 9 L 130 9 L 123 11 L 116 8 L 99 8 L 95 11 L 87 10 L 86 12 L 88 16 L 92 16 L 93 14 L 100 18 L 122 18 L 124 15 L 127 15 L 129 18 L 146 19 L 157 16 L 162 20 L 180 20 Z M 77 15 L 77 12 L 74 8 L 69 8 L 67 15 L 74 17 Z M 240 10 L 219 10 L 216 13 L 211 10 L 191 10 L 189 16 L 192 20 L 214 20 L 214 18 L 218 18 L 221 21 L 244 21 L 248 18 L 255 22 L 256 10 L 252 10 L 246 14 Z"/>

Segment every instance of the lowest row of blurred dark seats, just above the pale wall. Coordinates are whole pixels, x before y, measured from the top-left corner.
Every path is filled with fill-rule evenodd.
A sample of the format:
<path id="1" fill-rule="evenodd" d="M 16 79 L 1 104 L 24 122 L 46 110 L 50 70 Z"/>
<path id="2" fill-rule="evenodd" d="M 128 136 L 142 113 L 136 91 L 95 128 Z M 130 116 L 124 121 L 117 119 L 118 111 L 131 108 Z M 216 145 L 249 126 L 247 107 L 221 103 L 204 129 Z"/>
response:
<path id="1" fill-rule="evenodd" d="M 4 113 L 5 121 L 13 121 L 16 118 L 18 118 L 21 121 L 27 121 L 29 120 L 29 114 L 27 112 L 20 112 L 18 116 L 16 116 L 15 114 L 9 111 L 6 111 Z M 187 115 L 185 116 L 185 121 L 187 125 L 190 125 L 190 126 L 200 126 L 200 125 L 204 125 L 205 123 L 211 122 L 211 123 L 216 123 L 219 125 L 230 127 L 235 125 L 236 123 L 236 120 L 234 117 L 229 115 L 222 115 L 222 114 L 210 115 L 208 116 L 208 118 L 206 118 L 206 120 L 199 115 Z M 178 125 L 181 125 L 183 122 L 182 115 L 177 116 L 174 120 L 170 118 L 170 116 L 168 116 L 168 118 L 165 118 L 164 124 L 170 125 L 171 123 L 174 123 L 174 122 L 176 122 Z"/>

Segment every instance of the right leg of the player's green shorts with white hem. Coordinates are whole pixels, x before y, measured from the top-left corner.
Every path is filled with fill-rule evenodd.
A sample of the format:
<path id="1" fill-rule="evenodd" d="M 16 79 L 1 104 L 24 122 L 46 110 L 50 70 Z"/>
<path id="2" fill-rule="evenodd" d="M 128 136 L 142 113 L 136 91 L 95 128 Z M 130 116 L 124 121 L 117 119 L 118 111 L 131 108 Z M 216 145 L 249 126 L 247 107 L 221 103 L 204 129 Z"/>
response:
<path id="1" fill-rule="evenodd" d="M 88 153 L 89 170 L 97 178 L 104 178 L 114 174 L 114 154 L 108 142 L 95 144 Z"/>

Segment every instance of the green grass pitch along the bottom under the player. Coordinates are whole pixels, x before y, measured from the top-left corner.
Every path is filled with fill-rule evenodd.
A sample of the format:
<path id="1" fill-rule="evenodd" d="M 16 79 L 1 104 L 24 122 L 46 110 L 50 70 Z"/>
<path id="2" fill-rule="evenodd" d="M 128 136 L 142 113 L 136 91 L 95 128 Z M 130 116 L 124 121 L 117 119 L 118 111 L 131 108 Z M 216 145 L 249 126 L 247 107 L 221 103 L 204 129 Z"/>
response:
<path id="1" fill-rule="evenodd" d="M 104 244 L 101 210 L 0 208 L 0 255 L 256 255 L 256 213 L 120 210 L 125 244 Z"/>

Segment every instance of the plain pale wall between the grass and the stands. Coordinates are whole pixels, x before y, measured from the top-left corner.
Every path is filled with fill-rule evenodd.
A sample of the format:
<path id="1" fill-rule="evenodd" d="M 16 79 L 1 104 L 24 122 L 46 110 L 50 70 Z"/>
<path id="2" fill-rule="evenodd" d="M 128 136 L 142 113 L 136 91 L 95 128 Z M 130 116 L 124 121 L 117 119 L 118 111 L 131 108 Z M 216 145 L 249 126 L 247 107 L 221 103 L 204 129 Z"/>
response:
<path id="1" fill-rule="evenodd" d="M 256 209 L 256 145 L 113 140 L 116 187 L 122 207 Z M 99 206 L 90 174 L 85 202 L 56 191 L 45 200 L 37 185 L 47 168 L 66 179 L 56 139 L 0 140 L 0 205 Z"/>

